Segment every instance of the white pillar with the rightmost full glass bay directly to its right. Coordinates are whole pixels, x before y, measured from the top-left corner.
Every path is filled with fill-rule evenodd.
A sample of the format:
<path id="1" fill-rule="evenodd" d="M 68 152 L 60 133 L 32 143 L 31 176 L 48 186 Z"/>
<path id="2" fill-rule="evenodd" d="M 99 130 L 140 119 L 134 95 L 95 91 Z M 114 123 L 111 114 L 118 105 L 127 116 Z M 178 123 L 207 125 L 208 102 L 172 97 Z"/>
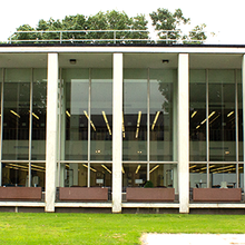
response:
<path id="1" fill-rule="evenodd" d="M 178 56 L 178 179 L 179 213 L 189 213 L 189 66 Z"/>

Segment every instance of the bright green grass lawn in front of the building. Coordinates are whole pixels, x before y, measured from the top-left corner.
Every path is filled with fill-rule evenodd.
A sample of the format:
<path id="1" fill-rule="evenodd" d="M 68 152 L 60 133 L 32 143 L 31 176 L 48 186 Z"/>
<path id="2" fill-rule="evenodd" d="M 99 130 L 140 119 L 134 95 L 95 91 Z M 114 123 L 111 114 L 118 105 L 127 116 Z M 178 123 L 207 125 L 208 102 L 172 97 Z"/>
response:
<path id="1" fill-rule="evenodd" d="M 143 233 L 245 233 L 243 215 L 0 213 L 0 244 L 140 244 Z"/>

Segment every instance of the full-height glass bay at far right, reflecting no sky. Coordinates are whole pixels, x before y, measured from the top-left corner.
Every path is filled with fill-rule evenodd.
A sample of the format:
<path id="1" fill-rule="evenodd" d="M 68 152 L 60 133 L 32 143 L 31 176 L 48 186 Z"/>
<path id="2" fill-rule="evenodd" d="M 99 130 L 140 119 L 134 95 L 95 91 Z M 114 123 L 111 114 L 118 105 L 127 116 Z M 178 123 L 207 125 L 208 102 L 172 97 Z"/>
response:
<path id="1" fill-rule="evenodd" d="M 190 187 L 242 187 L 241 70 L 190 70 Z"/>

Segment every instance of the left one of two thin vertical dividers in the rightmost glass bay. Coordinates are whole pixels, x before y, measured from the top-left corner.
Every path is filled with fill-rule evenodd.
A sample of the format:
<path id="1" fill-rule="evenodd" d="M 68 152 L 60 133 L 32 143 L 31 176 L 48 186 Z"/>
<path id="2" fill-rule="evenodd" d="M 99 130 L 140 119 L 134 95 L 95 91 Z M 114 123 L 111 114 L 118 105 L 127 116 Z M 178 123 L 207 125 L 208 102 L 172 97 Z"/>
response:
<path id="1" fill-rule="evenodd" d="M 206 69 L 206 160 L 207 160 L 207 188 L 209 188 L 209 90 L 208 90 L 208 69 Z"/>

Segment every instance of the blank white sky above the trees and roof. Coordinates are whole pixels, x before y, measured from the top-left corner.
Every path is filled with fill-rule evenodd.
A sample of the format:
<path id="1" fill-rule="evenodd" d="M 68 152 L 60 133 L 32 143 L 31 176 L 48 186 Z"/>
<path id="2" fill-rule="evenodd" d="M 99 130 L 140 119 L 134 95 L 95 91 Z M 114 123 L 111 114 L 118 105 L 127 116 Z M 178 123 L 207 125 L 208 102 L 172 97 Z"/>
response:
<path id="1" fill-rule="evenodd" d="M 158 8 L 174 12 L 182 9 L 185 18 L 190 18 L 192 29 L 205 23 L 208 36 L 207 43 L 245 45 L 245 0 L 12 0 L 1 2 L 0 13 L 0 41 L 8 37 L 19 26 L 24 23 L 36 27 L 40 19 L 63 19 L 65 16 L 94 16 L 107 10 L 125 11 L 129 17 L 144 13 L 148 14 Z M 214 32 L 213 37 L 210 33 Z"/>

